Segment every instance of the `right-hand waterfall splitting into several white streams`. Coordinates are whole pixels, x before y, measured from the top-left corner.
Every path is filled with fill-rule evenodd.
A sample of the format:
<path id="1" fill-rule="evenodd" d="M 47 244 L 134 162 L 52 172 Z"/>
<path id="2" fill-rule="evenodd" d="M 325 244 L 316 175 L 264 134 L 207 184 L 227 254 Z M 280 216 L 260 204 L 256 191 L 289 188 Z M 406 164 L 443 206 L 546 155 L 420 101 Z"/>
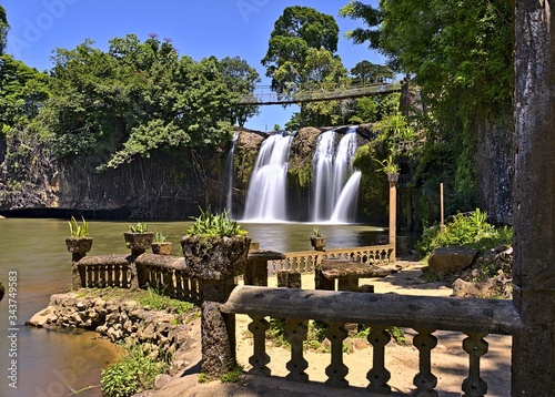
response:
<path id="1" fill-rule="evenodd" d="M 359 194 L 361 175 L 353 174 L 356 128 L 349 129 L 336 150 L 334 144 L 335 131 L 326 131 L 319 136 L 314 151 L 313 222 L 349 222 L 349 207 Z M 346 183 L 347 179 L 353 182 Z"/>

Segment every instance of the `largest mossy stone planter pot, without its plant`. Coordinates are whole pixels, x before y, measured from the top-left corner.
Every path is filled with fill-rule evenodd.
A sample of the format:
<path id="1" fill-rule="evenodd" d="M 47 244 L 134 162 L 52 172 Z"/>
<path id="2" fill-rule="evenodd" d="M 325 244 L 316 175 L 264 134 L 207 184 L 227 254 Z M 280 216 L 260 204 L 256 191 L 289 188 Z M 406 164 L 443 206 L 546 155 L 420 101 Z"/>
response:
<path id="1" fill-rule="evenodd" d="M 192 277 L 228 279 L 244 273 L 251 240 L 249 236 L 184 236 L 181 246 Z"/>

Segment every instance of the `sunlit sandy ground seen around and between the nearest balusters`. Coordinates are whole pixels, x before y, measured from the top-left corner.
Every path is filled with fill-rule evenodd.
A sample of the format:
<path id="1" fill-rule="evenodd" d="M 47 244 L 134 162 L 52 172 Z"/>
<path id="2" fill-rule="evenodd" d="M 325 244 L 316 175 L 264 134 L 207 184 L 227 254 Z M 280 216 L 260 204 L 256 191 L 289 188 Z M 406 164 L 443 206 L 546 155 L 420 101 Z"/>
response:
<path id="1" fill-rule="evenodd" d="M 428 296 L 450 296 L 452 288 L 445 283 L 427 283 L 422 277 L 423 265 L 416 262 L 398 261 L 401 266 L 398 273 L 394 273 L 384 278 L 364 279 L 361 283 L 373 284 L 375 293 L 386 294 L 410 294 Z M 313 275 L 303 275 L 303 288 L 313 288 Z M 270 277 L 270 286 L 275 285 L 275 278 Z M 77 305 L 75 301 L 75 305 Z M 124 304 L 120 303 L 119 307 Z M 137 309 L 137 307 L 134 308 Z M 123 316 L 124 318 L 124 316 Z M 81 317 L 81 320 L 84 318 Z M 122 324 L 125 320 L 113 324 Z M 168 319 L 167 319 L 168 320 Z M 246 316 L 238 316 L 238 362 L 244 369 L 250 368 L 249 357 L 252 355 L 252 337 L 248 332 L 250 319 Z M 160 322 L 158 322 L 160 323 Z M 171 320 L 170 320 L 171 323 Z M 112 326 L 113 329 L 115 327 Z M 128 325 L 129 328 L 129 325 Z M 132 326 L 131 326 L 132 329 Z M 412 379 L 417 373 L 418 355 L 412 346 L 412 338 L 415 335 L 412 329 L 406 329 L 407 343 L 405 345 L 391 342 L 386 347 L 386 366 L 391 371 L 390 385 L 393 395 L 410 394 L 414 387 Z M 113 332 L 112 332 L 113 335 Z M 432 352 L 433 373 L 438 378 L 437 390 L 440 396 L 461 395 L 462 380 L 467 376 L 468 357 L 462 349 L 464 335 L 460 333 L 436 332 L 438 338 L 437 347 Z M 108 330 L 107 330 L 108 337 Z M 171 375 L 158 378 L 155 390 L 149 390 L 141 396 L 173 397 L 173 396 L 353 396 L 367 395 L 366 374 L 372 366 L 372 348 L 365 339 L 349 342 L 349 354 L 344 355 L 345 365 L 349 367 L 346 379 L 350 381 L 347 389 L 333 389 L 324 386 L 326 379 L 325 367 L 330 364 L 330 354 L 306 352 L 305 358 L 309 362 L 306 373 L 311 379 L 307 384 L 295 384 L 285 381 L 286 363 L 291 357 L 291 352 L 283 347 L 276 347 L 270 340 L 266 342 L 266 353 L 271 357 L 269 367 L 272 377 L 253 377 L 244 375 L 236 384 L 221 384 L 212 381 L 200 384 L 199 374 L 201 371 L 200 350 L 200 320 L 188 325 L 188 346 L 183 349 L 182 366 Z M 482 358 L 481 373 L 488 383 L 488 396 L 504 397 L 509 395 L 511 384 L 511 337 L 490 335 L 487 336 L 490 353 Z M 175 367 L 174 367 L 175 369 Z"/>

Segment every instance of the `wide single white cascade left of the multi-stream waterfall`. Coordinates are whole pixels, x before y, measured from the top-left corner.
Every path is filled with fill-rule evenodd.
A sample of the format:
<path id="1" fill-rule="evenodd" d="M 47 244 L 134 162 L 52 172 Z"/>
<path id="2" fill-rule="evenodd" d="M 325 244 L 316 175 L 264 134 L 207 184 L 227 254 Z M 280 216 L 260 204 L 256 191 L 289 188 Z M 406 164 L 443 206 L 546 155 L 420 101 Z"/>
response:
<path id="1" fill-rule="evenodd" d="M 279 133 L 262 143 L 246 192 L 244 221 L 286 221 L 285 182 L 292 141 L 292 135 Z"/>

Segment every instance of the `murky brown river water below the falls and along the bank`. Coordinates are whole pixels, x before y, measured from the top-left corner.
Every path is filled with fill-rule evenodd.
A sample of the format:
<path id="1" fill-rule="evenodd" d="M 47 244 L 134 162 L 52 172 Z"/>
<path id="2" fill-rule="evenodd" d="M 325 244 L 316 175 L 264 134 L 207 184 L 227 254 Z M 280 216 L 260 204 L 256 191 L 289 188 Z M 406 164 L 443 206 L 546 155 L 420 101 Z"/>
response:
<path id="1" fill-rule="evenodd" d="M 261 250 L 279 252 L 311 250 L 309 237 L 315 226 L 329 237 L 330 248 L 370 245 L 379 233 L 379 228 L 369 225 L 241 224 L 260 242 Z M 174 243 L 173 254 L 178 255 L 179 241 L 189 225 L 190 222 L 152 222 L 149 230 L 168 234 Z M 124 222 L 90 222 L 94 243 L 89 255 L 125 253 L 125 231 Z M 52 294 L 67 292 L 71 284 L 71 255 L 64 243 L 68 234 L 63 220 L 0 220 L 0 281 L 7 288 L 0 303 L 0 397 L 64 397 L 91 386 L 78 396 L 102 396 L 101 368 L 117 360 L 114 346 L 91 332 L 24 325 L 48 306 Z M 17 291 L 11 296 L 16 306 L 8 295 L 10 278 Z"/>

